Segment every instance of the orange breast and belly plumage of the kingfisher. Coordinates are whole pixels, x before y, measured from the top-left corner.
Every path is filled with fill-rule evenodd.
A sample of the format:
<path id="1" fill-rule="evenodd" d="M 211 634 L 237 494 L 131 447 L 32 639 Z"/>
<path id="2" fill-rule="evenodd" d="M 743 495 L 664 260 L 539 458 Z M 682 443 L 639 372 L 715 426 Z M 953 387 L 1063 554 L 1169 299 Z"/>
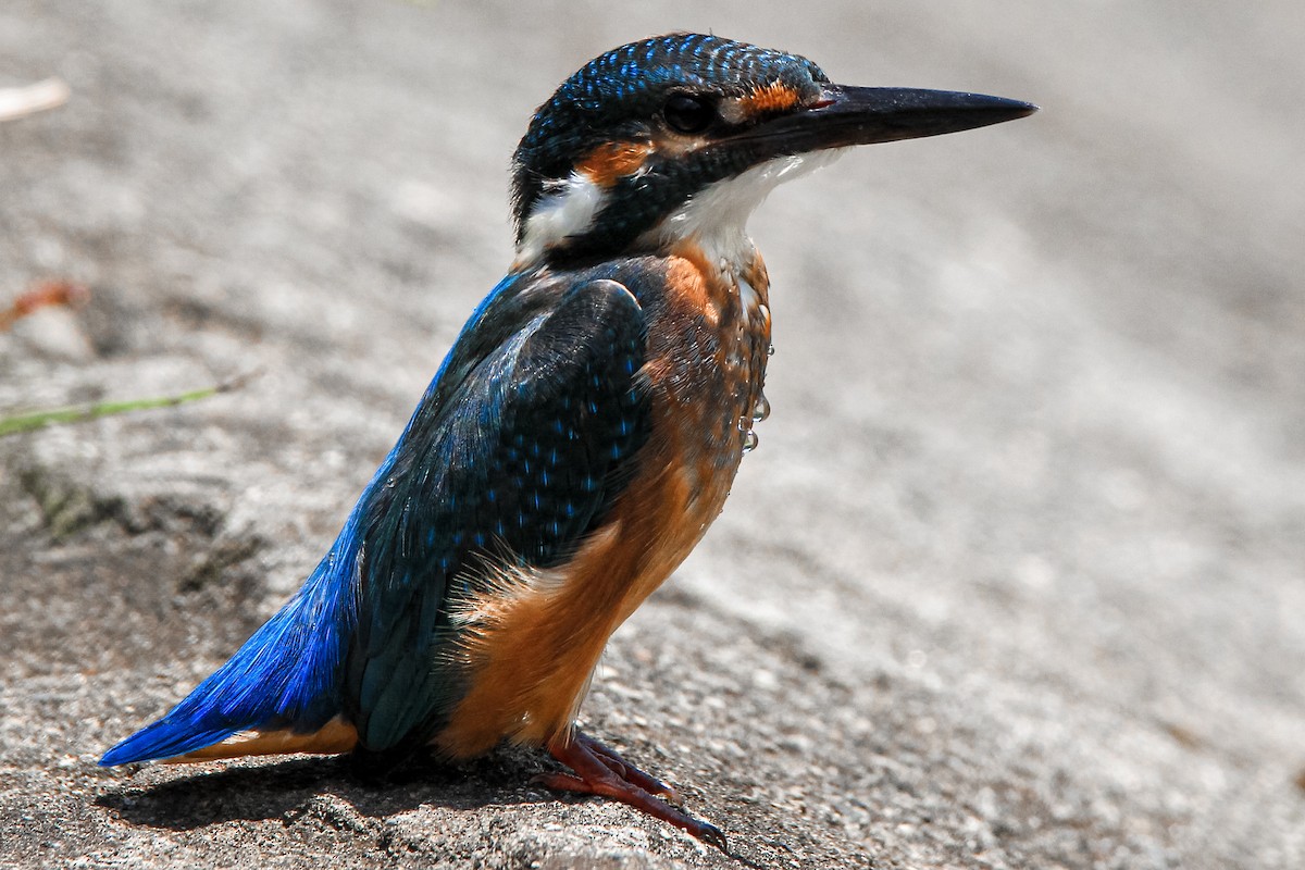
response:
<path id="1" fill-rule="evenodd" d="M 471 687 L 435 745 L 470 757 L 504 737 L 562 738 L 612 631 L 669 577 L 716 518 L 743 457 L 740 419 L 761 398 L 770 313 L 756 257 L 722 273 L 685 247 L 645 305 L 652 429 L 604 526 L 564 566 L 505 577 L 472 603 Z M 655 314 L 651 314 L 655 312 Z"/>

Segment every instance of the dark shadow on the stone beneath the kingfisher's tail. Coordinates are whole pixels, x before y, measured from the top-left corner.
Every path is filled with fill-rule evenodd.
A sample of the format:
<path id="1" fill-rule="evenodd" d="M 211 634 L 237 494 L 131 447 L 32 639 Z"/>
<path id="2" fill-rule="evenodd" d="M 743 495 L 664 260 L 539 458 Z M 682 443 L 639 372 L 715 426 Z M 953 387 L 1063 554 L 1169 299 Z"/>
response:
<path id="1" fill-rule="evenodd" d="M 547 763 L 521 749 L 455 766 L 416 758 L 377 781 L 354 776 L 347 758 L 295 758 L 224 770 L 177 767 L 175 779 L 110 787 L 95 803 L 132 824 L 172 831 L 234 820 L 292 823 L 321 796 L 334 796 L 359 815 L 380 819 L 422 805 L 470 810 L 553 800 L 529 787 Z"/>

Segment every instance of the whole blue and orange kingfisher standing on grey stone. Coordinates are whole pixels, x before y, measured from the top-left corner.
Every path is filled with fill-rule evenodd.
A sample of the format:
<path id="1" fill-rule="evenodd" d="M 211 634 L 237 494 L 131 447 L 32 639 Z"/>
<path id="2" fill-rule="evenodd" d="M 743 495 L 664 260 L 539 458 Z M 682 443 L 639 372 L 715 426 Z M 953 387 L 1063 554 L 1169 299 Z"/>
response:
<path id="1" fill-rule="evenodd" d="M 100 764 L 504 742 L 536 777 L 709 844 L 676 789 L 576 727 L 611 634 L 720 513 L 771 352 L 745 231 L 779 183 L 855 145 L 1035 111 L 831 83 L 799 55 L 676 33 L 613 48 L 513 158 L 515 258 L 440 365 L 329 552 L 231 659 Z"/>

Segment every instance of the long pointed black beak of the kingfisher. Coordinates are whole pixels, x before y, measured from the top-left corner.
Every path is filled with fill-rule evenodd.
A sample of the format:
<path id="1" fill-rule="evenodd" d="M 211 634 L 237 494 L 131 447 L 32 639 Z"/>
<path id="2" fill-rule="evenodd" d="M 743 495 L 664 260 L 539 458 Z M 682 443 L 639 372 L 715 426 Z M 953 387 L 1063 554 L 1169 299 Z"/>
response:
<path id="1" fill-rule="evenodd" d="M 1036 111 L 1032 103 L 984 94 L 826 85 L 813 103 L 741 132 L 735 141 L 762 145 L 779 157 L 958 133 Z"/>

